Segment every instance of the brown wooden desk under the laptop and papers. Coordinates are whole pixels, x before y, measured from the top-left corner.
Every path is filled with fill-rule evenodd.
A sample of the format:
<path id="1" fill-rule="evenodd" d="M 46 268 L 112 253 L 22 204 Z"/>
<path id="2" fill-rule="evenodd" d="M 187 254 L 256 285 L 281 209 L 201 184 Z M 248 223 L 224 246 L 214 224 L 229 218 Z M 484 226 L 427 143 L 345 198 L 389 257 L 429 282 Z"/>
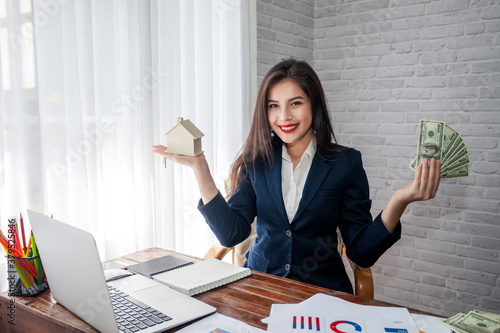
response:
<path id="1" fill-rule="evenodd" d="M 123 256 L 117 261 L 134 264 L 172 253 L 174 252 L 151 248 Z M 201 260 L 199 258 L 195 259 Z M 273 303 L 298 303 L 317 293 L 337 296 L 357 304 L 394 306 L 394 304 L 365 299 L 255 271 L 252 271 L 252 275 L 239 281 L 194 297 L 214 306 L 217 308 L 218 313 L 266 329 L 267 325 L 263 324 L 261 319 L 269 316 Z M 15 325 L 9 324 L 9 320 L 11 320 L 9 314 L 11 312 L 14 315 L 12 319 L 15 319 Z M 410 312 L 422 313 L 411 309 Z M 187 325 L 169 330 L 169 332 L 175 332 Z M 57 304 L 50 291 L 45 291 L 37 297 L 9 297 L 7 292 L 0 294 L 0 332 L 57 333 L 97 331 Z"/>

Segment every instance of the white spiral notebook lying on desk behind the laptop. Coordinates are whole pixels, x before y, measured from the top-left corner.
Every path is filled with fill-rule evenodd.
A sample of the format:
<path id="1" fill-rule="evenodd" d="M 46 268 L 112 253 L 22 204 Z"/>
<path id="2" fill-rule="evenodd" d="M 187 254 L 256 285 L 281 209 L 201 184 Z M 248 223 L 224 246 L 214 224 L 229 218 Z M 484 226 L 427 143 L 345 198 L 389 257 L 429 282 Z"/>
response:
<path id="1" fill-rule="evenodd" d="M 154 274 L 152 278 L 192 296 L 239 280 L 250 274 L 249 268 L 210 258 L 189 266 Z"/>

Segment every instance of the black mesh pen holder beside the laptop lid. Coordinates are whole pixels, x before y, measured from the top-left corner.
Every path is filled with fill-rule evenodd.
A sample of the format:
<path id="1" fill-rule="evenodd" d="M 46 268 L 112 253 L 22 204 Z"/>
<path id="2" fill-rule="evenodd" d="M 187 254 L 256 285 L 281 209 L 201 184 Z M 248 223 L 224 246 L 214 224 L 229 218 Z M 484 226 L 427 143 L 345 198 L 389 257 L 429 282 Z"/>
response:
<path id="1" fill-rule="evenodd" d="M 40 256 L 7 256 L 9 296 L 36 296 L 49 289 Z"/>

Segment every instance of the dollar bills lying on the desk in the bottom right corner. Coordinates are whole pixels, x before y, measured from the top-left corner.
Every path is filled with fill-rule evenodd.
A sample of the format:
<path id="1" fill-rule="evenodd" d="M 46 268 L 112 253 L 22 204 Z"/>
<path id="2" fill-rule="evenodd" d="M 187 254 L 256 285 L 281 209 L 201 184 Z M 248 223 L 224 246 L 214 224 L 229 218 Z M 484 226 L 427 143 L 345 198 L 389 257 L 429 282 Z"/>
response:
<path id="1" fill-rule="evenodd" d="M 472 310 L 468 314 L 458 313 L 443 320 L 456 333 L 500 332 L 500 314 Z"/>

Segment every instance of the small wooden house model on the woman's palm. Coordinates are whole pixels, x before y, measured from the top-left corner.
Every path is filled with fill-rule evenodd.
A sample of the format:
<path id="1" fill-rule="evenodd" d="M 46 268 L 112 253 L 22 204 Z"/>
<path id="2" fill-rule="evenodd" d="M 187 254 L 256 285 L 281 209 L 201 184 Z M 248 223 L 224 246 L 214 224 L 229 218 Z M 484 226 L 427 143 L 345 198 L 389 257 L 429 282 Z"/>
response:
<path id="1" fill-rule="evenodd" d="M 204 134 L 189 120 L 177 118 L 177 125 L 165 133 L 167 153 L 197 156 L 201 150 L 201 137 Z"/>

